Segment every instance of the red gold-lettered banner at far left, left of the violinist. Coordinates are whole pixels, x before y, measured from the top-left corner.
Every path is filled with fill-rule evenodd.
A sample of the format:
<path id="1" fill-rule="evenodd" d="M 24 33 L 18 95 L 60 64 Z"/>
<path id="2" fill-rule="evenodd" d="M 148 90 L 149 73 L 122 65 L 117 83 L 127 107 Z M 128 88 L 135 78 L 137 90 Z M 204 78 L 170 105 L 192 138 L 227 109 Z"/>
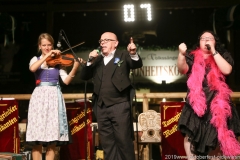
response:
<path id="1" fill-rule="evenodd" d="M 0 152 L 19 153 L 18 103 L 0 100 Z"/>

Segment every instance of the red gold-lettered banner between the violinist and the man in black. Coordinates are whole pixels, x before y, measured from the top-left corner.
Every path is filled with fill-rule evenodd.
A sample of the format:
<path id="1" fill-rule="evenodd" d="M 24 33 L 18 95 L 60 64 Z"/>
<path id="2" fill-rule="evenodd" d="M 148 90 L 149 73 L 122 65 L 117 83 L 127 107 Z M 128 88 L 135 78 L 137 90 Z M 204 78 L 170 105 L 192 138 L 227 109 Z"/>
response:
<path id="1" fill-rule="evenodd" d="M 91 128 L 92 107 L 89 101 L 86 102 L 86 107 L 87 107 L 87 133 L 85 133 L 84 100 L 66 103 L 70 133 L 72 135 L 72 143 L 61 147 L 60 160 L 83 160 L 86 157 L 85 156 L 86 152 L 87 159 L 89 160 L 94 159 Z"/>

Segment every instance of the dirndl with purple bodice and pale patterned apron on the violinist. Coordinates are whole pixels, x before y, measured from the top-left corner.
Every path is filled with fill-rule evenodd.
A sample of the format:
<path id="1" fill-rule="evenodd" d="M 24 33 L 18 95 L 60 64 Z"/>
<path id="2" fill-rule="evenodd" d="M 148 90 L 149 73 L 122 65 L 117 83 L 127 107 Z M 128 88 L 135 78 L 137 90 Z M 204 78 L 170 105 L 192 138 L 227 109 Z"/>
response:
<path id="1" fill-rule="evenodd" d="M 59 68 L 39 68 L 35 77 L 38 84 L 29 102 L 26 144 L 68 144 L 71 136 L 65 102 L 58 82 Z"/>

